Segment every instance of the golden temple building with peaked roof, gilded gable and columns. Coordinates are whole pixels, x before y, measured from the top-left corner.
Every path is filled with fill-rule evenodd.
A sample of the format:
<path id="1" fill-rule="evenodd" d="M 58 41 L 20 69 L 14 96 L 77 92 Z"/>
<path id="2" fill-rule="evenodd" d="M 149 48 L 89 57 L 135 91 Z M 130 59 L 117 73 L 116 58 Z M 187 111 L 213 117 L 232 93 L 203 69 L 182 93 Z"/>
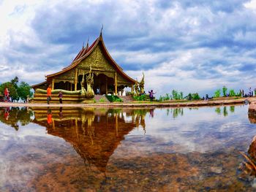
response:
<path id="1" fill-rule="evenodd" d="M 136 80 L 125 74 L 110 56 L 100 33 L 90 46 L 87 42 L 86 47 L 82 47 L 69 66 L 60 72 L 46 75 L 45 82 L 32 85 L 32 88 L 35 91 L 37 88 L 46 90 L 48 85 L 51 85 L 52 90 L 79 91 L 82 87 L 86 88 L 83 78 L 89 72 L 94 77 L 94 93 L 99 92 L 101 95 L 108 93 L 118 95 L 119 91 L 124 91 L 127 87 L 133 91 L 133 85 L 136 83 Z"/>

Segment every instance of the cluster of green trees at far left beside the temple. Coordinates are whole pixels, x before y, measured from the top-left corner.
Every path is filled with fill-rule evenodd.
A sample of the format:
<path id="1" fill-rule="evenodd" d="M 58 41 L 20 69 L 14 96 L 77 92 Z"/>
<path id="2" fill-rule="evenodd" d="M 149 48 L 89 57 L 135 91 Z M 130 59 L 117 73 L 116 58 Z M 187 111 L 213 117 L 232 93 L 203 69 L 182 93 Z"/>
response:
<path id="1" fill-rule="evenodd" d="M 31 86 L 29 83 L 21 81 L 18 77 L 14 77 L 9 82 L 3 82 L 0 84 L 0 94 L 4 94 L 4 89 L 8 88 L 11 101 L 26 101 L 27 97 L 33 96 Z"/>

